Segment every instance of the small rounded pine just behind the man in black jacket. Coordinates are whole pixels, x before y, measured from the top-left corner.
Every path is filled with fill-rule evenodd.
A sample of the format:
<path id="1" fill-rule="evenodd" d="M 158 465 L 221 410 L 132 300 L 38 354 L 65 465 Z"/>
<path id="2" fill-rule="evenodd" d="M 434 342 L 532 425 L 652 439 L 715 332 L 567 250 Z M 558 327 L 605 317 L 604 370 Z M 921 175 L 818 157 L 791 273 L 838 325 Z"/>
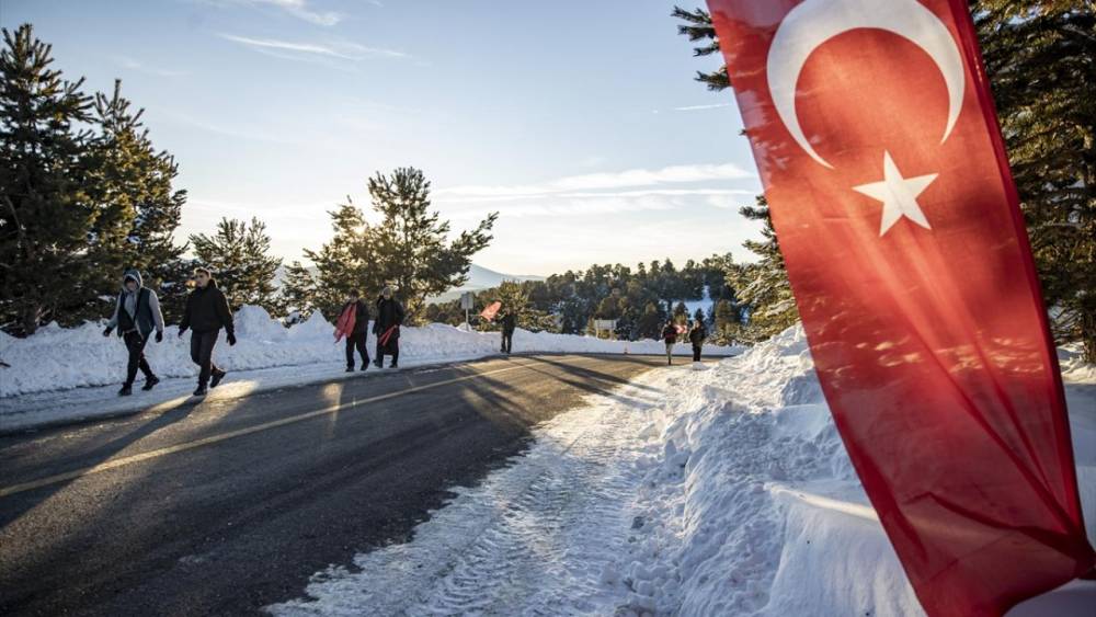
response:
<path id="1" fill-rule="evenodd" d="M 214 272 L 232 310 L 254 305 L 271 315 L 282 312 L 274 284 L 282 260 L 269 254 L 271 239 L 263 221 L 252 218 L 248 225 L 222 218 L 215 235 L 195 233 L 191 243 L 198 262 Z"/>

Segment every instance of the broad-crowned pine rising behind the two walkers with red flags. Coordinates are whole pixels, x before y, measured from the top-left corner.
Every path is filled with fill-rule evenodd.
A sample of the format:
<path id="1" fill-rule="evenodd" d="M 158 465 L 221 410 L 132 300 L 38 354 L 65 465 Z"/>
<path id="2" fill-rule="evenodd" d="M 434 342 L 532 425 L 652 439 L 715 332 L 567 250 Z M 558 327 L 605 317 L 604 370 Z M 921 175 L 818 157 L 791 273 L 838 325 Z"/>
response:
<path id="1" fill-rule="evenodd" d="M 449 221 L 431 212 L 430 182 L 422 171 L 399 168 L 390 175 L 369 179 L 373 208 L 383 220 L 367 226 L 367 240 L 377 248 L 377 266 L 385 281 L 395 283 L 414 321 L 426 298 L 468 279 L 471 258 L 490 243 L 499 214 L 492 213 L 471 231 L 447 241 Z"/>

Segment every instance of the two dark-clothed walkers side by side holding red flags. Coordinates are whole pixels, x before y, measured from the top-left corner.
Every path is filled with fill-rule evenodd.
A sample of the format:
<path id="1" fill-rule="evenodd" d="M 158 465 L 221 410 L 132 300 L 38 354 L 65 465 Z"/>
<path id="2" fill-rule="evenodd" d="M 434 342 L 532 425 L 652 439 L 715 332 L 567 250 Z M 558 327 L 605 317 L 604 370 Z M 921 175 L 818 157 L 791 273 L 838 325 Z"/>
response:
<path id="1" fill-rule="evenodd" d="M 373 322 L 373 333 L 377 336 L 377 359 L 373 364 L 377 368 L 385 365 L 385 355 L 392 356 L 388 366 L 397 368 L 400 364 L 400 325 L 407 311 L 392 295 L 392 288 L 386 286 L 377 298 L 377 319 Z M 354 373 L 354 351 L 362 357 L 362 370 L 369 368 L 369 350 L 366 347 L 366 332 L 369 330 L 369 307 L 362 300 L 357 289 L 352 289 L 346 296 L 346 304 L 339 311 L 335 321 L 335 341 L 346 338 L 346 373 Z"/>

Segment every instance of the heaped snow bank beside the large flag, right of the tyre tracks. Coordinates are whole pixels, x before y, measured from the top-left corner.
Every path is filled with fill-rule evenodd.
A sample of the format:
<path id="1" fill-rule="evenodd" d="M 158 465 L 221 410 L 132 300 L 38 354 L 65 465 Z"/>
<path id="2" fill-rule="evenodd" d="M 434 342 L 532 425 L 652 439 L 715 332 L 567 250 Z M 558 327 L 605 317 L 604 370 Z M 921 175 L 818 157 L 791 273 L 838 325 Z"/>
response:
<path id="1" fill-rule="evenodd" d="M 1064 366 L 1064 365 L 1063 365 Z M 1096 537 L 1096 378 L 1065 372 L 1089 537 Z M 620 579 L 637 613 L 923 615 L 822 397 L 801 328 L 715 369 L 642 432 L 661 449 L 636 502 Z M 1018 610 L 1020 612 L 1020 610 Z"/>

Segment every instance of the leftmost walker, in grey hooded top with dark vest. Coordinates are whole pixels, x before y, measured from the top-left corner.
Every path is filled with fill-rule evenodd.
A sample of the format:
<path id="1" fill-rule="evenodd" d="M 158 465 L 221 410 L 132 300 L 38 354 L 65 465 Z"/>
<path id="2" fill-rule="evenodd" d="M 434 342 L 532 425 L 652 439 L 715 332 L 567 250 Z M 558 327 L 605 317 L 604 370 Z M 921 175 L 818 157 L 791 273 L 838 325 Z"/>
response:
<path id="1" fill-rule="evenodd" d="M 126 344 L 129 352 L 129 363 L 126 366 L 126 382 L 118 390 L 118 396 L 128 397 L 133 393 L 137 369 L 145 374 L 142 390 L 151 390 L 160 378 L 152 374 L 152 367 L 145 359 L 145 344 L 156 329 L 156 342 L 163 341 L 163 315 L 160 312 L 160 299 L 156 292 L 145 287 L 140 272 L 127 270 L 122 277 L 122 293 L 114 305 L 114 315 L 103 330 L 103 336 L 110 336 L 114 329 Z"/>

